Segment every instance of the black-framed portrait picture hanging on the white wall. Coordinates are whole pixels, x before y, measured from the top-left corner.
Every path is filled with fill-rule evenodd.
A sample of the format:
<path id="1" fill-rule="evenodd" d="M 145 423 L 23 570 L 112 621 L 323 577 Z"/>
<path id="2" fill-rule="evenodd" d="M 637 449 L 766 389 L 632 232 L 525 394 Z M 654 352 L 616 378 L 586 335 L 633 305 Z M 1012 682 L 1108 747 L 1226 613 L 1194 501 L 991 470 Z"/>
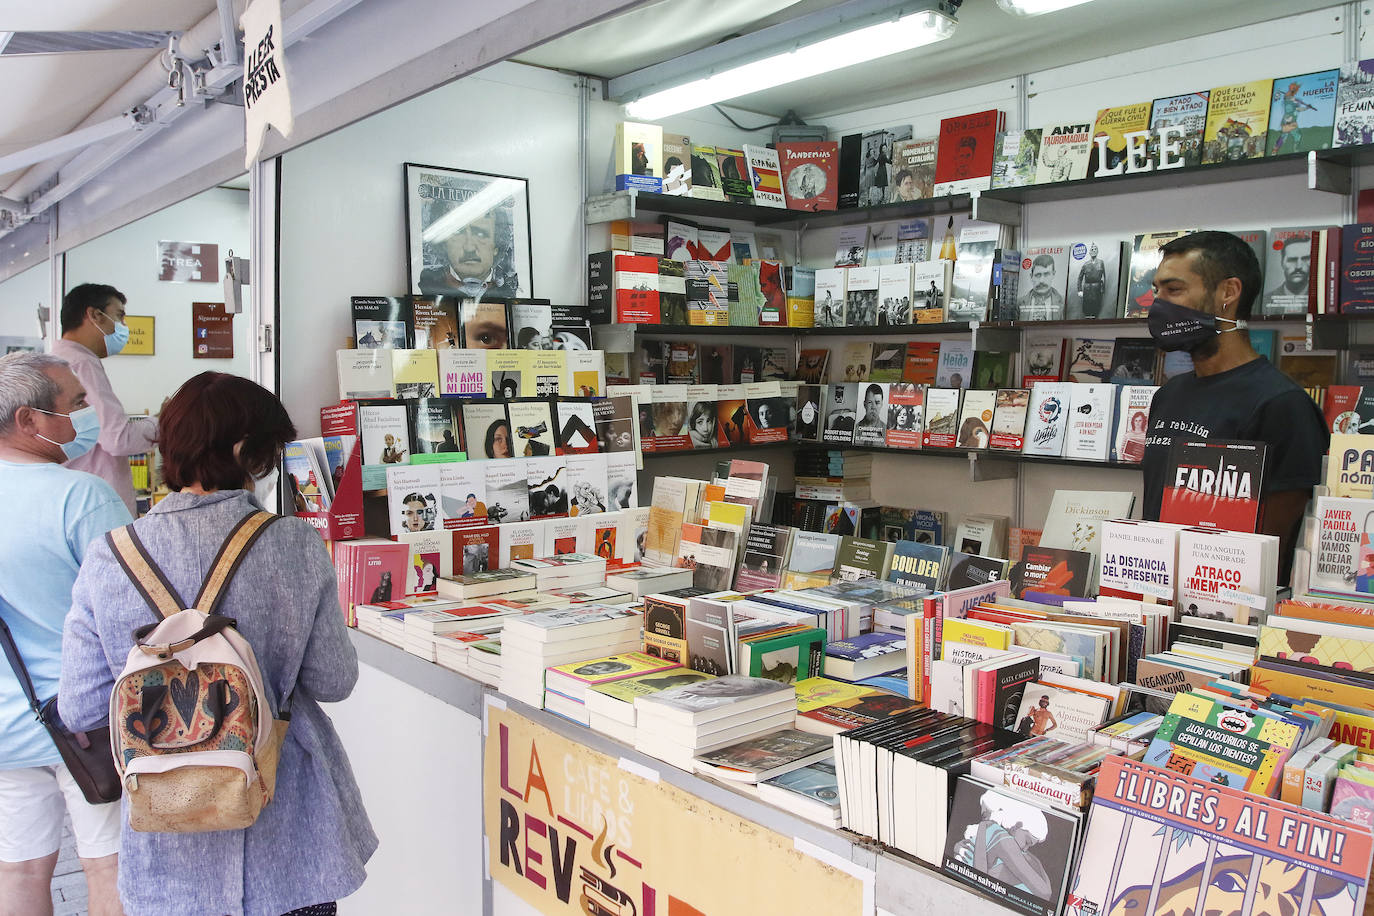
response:
<path id="1" fill-rule="evenodd" d="M 526 179 L 418 162 L 404 163 L 404 174 L 412 294 L 478 301 L 534 295 Z"/>

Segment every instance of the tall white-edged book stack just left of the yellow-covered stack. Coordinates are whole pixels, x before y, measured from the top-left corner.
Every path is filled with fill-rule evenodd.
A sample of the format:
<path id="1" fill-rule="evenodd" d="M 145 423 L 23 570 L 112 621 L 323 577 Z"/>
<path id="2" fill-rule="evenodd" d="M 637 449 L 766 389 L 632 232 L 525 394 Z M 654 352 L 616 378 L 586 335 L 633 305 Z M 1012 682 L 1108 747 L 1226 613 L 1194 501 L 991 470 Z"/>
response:
<path id="1" fill-rule="evenodd" d="M 544 705 L 544 670 L 639 648 L 642 618 L 624 607 L 578 604 L 513 617 L 502 632 L 502 692 Z"/>

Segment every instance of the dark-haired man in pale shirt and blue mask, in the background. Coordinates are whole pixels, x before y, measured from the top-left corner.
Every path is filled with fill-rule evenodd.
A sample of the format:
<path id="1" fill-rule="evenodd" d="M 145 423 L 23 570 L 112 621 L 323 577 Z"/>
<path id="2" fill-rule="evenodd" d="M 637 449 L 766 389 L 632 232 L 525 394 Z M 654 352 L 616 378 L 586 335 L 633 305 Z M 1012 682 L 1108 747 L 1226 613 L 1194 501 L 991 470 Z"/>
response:
<path id="1" fill-rule="evenodd" d="M 120 494 L 129 514 L 137 515 L 129 456 L 153 450 L 158 422 L 131 419 L 100 365 L 100 360 L 129 342 L 129 328 L 124 324 L 126 302 L 122 293 L 103 283 L 73 287 L 62 299 L 62 339 L 52 345 L 52 354 L 67 361 L 100 416 L 100 441 L 87 455 L 67 461 L 67 467 L 102 478 Z"/>

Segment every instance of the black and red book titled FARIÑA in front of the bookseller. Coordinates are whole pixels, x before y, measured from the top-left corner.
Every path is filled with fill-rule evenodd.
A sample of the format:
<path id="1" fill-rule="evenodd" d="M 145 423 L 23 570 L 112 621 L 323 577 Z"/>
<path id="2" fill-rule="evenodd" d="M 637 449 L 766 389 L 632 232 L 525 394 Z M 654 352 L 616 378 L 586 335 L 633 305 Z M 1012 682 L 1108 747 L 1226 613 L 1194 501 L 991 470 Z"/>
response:
<path id="1" fill-rule="evenodd" d="M 1160 520 L 1256 530 L 1267 450 L 1263 442 L 1175 441 L 1165 464 Z"/>

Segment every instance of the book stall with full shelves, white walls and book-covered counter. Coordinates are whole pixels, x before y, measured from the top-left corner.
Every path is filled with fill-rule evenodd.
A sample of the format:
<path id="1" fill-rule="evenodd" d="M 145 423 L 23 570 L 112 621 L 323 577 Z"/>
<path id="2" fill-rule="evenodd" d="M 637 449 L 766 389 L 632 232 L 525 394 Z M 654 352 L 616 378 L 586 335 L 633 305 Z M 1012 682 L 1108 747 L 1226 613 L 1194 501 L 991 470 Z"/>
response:
<path id="1" fill-rule="evenodd" d="M 1367 912 L 1367 15 L 940 56 L 1112 4 L 595 70 L 639 8 L 276 151 L 283 512 L 382 838 L 342 912 Z M 943 63 L 746 81 L 860 32 Z M 1200 231 L 1305 438 L 1151 427 Z"/>

